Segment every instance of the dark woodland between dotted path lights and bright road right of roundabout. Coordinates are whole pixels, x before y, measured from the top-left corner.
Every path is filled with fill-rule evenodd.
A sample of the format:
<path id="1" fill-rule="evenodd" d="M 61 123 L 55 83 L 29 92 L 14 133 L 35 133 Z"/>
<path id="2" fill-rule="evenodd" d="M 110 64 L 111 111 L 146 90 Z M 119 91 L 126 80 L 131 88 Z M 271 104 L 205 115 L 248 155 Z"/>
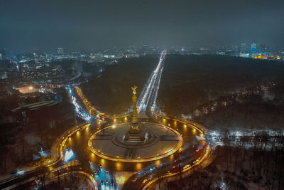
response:
<path id="1" fill-rule="evenodd" d="M 250 95 L 219 97 L 214 102 L 218 102 L 214 110 L 208 109 L 207 114 L 200 114 L 195 121 L 214 130 L 282 130 L 284 127 L 284 85 Z M 224 106 L 222 102 L 228 103 Z"/>

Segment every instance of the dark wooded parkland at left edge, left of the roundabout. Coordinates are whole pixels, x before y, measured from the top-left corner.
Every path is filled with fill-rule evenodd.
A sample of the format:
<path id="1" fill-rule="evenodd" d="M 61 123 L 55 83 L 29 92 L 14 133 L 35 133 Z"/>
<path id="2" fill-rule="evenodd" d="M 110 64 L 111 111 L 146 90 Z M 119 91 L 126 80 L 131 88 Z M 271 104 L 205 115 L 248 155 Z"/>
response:
<path id="1" fill-rule="evenodd" d="M 11 110 L 20 106 L 20 102 L 43 101 L 44 96 L 39 98 L 31 95 L 26 100 L 20 100 L 20 95 L 14 94 L 7 95 L 0 101 L 1 174 L 7 174 L 26 164 L 35 164 L 33 154 L 38 154 L 41 148 L 49 150 L 56 137 L 75 125 L 73 107 L 68 101 L 66 90 L 61 89 L 57 93 L 62 96 L 62 102 L 29 112 L 27 121 L 21 120 L 21 114 L 18 115 Z"/>

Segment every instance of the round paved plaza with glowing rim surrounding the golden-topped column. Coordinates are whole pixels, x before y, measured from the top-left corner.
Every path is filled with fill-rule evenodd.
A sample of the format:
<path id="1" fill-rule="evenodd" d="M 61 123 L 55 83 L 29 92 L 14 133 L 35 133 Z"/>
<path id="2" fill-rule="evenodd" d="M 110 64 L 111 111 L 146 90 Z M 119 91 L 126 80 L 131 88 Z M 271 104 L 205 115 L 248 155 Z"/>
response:
<path id="1" fill-rule="evenodd" d="M 148 162 L 173 154 L 182 145 L 181 135 L 170 127 L 141 123 L 143 140 L 125 139 L 129 125 L 99 130 L 89 139 L 89 147 L 99 157 L 116 162 Z"/>

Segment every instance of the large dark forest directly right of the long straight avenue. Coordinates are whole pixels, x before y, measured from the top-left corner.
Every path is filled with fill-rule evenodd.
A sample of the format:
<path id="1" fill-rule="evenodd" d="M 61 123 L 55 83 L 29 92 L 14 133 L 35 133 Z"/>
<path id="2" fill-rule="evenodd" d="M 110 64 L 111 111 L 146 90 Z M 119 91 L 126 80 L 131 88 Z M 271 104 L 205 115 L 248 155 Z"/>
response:
<path id="1" fill-rule="evenodd" d="M 165 58 L 158 100 L 169 115 L 189 113 L 220 95 L 274 81 L 284 82 L 284 63 L 227 56 Z"/>

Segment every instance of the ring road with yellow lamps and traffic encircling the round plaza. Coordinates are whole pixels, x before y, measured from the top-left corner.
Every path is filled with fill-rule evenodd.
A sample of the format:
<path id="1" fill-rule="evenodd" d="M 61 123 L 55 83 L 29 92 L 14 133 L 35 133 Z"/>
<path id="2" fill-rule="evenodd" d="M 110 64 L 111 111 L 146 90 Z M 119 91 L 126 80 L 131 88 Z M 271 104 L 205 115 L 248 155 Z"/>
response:
<path id="1" fill-rule="evenodd" d="M 115 120 L 115 122 L 114 122 Z M 207 146 L 204 135 L 204 128 L 200 125 L 192 125 L 190 123 L 170 119 L 156 115 L 153 119 L 143 119 L 141 122 L 153 122 L 158 125 L 165 125 L 177 130 L 182 135 L 182 147 L 178 152 L 151 162 L 116 162 L 97 156 L 88 146 L 90 137 L 99 130 L 112 125 L 127 123 L 124 117 L 109 120 L 104 124 L 99 123 L 89 125 L 89 127 L 81 127 L 80 130 L 72 132 L 68 136 L 65 148 L 72 149 L 75 152 L 75 157 L 80 160 L 85 167 L 90 168 L 92 164 L 102 166 L 110 172 L 114 171 L 131 171 L 133 175 L 126 180 L 124 189 L 131 189 L 134 186 L 136 189 L 143 189 L 158 181 L 160 178 L 171 177 L 185 172 L 202 163 L 210 153 L 210 148 Z M 97 168 L 91 171 L 91 175 L 96 174 Z"/>

